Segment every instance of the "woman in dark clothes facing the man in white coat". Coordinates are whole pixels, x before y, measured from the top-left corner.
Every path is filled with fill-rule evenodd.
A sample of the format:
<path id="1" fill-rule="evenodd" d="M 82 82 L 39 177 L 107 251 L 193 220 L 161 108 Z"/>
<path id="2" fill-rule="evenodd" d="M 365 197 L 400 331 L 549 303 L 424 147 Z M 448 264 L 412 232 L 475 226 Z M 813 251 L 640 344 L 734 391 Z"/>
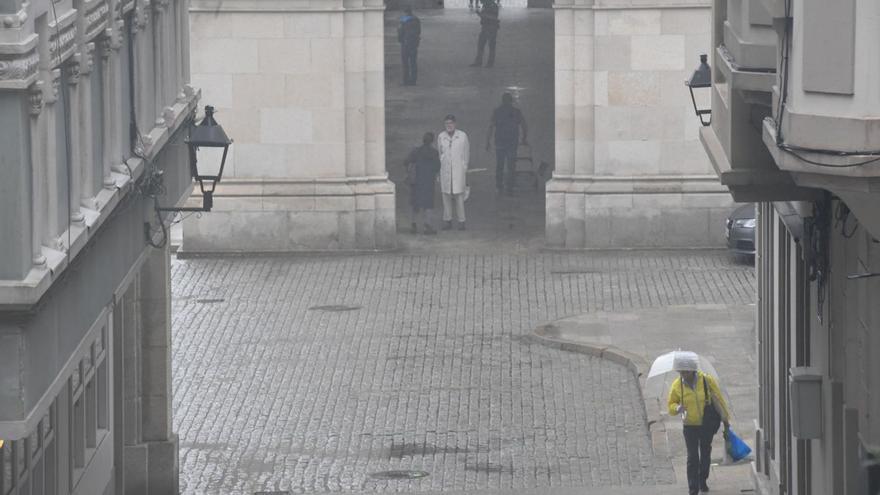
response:
<path id="1" fill-rule="evenodd" d="M 436 234 L 430 218 L 434 210 L 434 184 L 440 172 L 440 154 L 434 148 L 434 133 L 425 133 L 422 145 L 410 152 L 405 165 L 407 182 L 411 188 L 409 203 L 413 209 L 412 232 L 418 233 L 418 224 L 421 222 L 425 227 L 425 234 Z"/>

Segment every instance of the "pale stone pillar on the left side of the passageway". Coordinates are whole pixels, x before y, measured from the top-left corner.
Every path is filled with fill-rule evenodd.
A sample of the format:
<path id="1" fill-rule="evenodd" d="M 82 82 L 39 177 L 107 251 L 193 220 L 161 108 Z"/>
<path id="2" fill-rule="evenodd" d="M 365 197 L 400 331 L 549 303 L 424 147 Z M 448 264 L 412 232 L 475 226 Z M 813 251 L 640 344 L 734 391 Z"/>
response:
<path id="1" fill-rule="evenodd" d="M 186 252 L 395 245 L 382 0 L 192 3 L 193 84 L 235 141 Z"/>

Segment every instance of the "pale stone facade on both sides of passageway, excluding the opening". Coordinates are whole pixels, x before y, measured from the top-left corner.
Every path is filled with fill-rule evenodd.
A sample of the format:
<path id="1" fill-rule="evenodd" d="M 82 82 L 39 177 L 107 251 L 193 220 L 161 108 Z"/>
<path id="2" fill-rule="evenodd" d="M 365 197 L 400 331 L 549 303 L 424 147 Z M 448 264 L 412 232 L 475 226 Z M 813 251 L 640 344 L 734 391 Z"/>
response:
<path id="1" fill-rule="evenodd" d="M 553 9 L 547 244 L 720 245 L 732 201 L 700 148 L 683 85 L 708 51 L 708 1 L 556 0 Z M 193 79 L 235 122 L 237 140 L 234 179 L 217 194 L 224 211 L 185 223 L 185 251 L 395 246 L 383 10 L 382 0 L 193 2 Z"/>

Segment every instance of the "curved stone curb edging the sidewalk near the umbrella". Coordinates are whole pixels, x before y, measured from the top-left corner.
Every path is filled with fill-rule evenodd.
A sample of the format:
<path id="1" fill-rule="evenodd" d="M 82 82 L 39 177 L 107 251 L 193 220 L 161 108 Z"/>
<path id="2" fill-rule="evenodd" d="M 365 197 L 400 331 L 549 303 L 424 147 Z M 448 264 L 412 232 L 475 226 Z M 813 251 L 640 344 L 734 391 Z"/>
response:
<path id="1" fill-rule="evenodd" d="M 542 331 L 552 326 L 552 323 L 538 326 L 531 334 L 526 336 L 527 340 L 562 351 L 577 352 L 607 359 L 632 371 L 639 380 L 639 395 L 642 397 L 642 405 L 645 408 L 645 417 L 648 421 L 648 433 L 651 436 L 651 448 L 654 450 L 654 456 L 671 461 L 672 451 L 669 448 L 666 422 L 660 414 L 662 404 L 660 404 L 659 399 L 645 398 L 645 379 L 650 368 L 648 362 L 637 354 L 624 351 L 612 345 L 590 342 L 575 343 L 542 335 Z"/>

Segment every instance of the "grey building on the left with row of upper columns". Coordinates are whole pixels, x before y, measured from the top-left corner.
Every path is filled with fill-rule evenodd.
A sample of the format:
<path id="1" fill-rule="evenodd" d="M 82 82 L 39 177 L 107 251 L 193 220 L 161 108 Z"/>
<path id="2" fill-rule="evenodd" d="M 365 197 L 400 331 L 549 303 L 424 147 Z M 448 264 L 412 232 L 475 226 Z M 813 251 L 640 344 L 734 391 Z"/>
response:
<path id="1" fill-rule="evenodd" d="M 176 493 L 185 0 L 0 2 L 0 493 Z M 155 199 L 155 201 L 154 201 Z"/>

